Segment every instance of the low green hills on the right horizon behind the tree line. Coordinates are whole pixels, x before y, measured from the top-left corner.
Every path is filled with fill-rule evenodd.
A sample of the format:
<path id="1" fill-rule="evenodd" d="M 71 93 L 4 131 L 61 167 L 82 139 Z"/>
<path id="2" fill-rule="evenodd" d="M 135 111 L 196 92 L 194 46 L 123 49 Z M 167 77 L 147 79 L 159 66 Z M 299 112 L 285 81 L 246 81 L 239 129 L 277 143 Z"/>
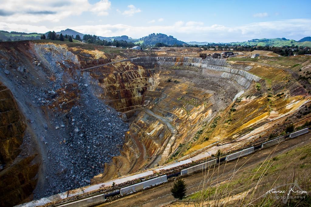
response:
<path id="1" fill-rule="evenodd" d="M 293 39 L 286 39 L 286 38 L 273 38 L 273 39 L 252 39 L 245 42 L 233 42 L 229 43 L 232 45 L 250 45 L 250 46 L 274 46 L 274 47 L 283 47 L 283 46 L 291 46 L 291 45 L 297 45 L 297 46 L 307 46 L 311 47 L 311 42 L 299 42 L 295 41 Z"/>

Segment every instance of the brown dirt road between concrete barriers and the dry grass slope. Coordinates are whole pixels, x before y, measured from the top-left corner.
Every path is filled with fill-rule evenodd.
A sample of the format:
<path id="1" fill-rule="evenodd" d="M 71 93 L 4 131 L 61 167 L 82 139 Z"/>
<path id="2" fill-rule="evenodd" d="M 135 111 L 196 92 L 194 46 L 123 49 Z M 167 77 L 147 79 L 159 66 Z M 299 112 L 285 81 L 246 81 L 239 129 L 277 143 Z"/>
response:
<path id="1" fill-rule="evenodd" d="M 234 170 L 251 170 L 259 163 L 264 161 L 269 155 L 273 157 L 286 151 L 295 149 L 296 147 L 308 144 L 311 144 L 311 133 L 304 134 L 294 139 L 290 139 L 286 142 L 282 142 L 278 146 L 272 146 L 263 150 L 259 150 L 253 154 L 241 157 L 239 160 L 232 160 L 231 162 L 221 164 L 219 169 L 218 166 L 215 167 L 214 171 L 216 171 L 216 173 L 214 173 L 215 176 L 213 176 L 213 180 L 215 180 L 219 176 L 221 176 L 219 180 L 222 181 L 229 179 L 234 173 Z M 274 151 L 273 154 L 271 153 L 272 151 Z M 213 169 L 211 168 L 210 173 L 212 171 Z M 202 184 L 204 181 L 204 172 L 196 173 L 191 176 L 185 177 L 184 181 L 187 184 L 187 195 L 197 192 L 202 188 Z M 173 182 L 167 182 L 160 186 L 156 186 L 145 191 L 140 191 L 129 196 L 122 197 L 118 200 L 106 202 L 99 206 L 165 206 L 176 200 L 170 193 L 170 188 L 172 187 L 172 185 Z"/>

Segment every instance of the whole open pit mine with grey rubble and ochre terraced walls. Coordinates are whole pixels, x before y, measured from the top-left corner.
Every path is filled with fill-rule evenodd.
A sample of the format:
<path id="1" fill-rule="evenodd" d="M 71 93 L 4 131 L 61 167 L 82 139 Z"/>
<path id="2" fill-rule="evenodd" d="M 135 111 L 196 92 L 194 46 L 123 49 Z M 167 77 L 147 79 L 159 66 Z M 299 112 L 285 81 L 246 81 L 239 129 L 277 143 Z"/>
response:
<path id="1" fill-rule="evenodd" d="M 206 52 L 0 43 L 0 205 L 253 146 L 310 113 L 310 57 Z"/>

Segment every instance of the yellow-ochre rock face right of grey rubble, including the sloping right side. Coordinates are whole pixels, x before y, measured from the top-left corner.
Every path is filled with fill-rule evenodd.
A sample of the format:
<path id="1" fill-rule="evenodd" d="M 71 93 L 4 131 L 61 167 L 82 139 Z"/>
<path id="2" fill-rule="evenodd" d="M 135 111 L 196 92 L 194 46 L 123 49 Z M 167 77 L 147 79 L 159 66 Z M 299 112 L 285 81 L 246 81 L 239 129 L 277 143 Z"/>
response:
<path id="1" fill-rule="evenodd" d="M 116 176 L 155 166 L 153 160 L 161 155 L 165 150 L 163 146 L 175 134 L 169 156 L 157 160 L 156 164 L 190 155 L 215 142 L 234 140 L 245 133 L 260 134 L 266 130 L 262 126 L 267 126 L 265 124 L 269 117 L 277 119 L 290 114 L 309 100 L 309 96 L 304 97 L 307 95 L 306 91 L 296 81 L 288 87 L 298 86 L 295 89 L 298 97 L 294 91 L 286 98 L 268 100 L 266 94 L 273 93 L 272 90 L 276 88 L 273 81 L 279 80 L 279 84 L 286 84 L 288 80 L 285 77 L 289 75 L 279 68 L 260 66 L 258 63 L 239 62 L 229 65 L 213 60 L 210 63 L 197 62 L 196 58 L 183 57 L 163 57 L 158 60 L 140 58 L 137 63 L 135 61 L 92 71 L 93 77 L 100 74 L 100 70 L 105 71 L 102 75 L 108 77 L 100 81 L 105 90 L 105 98 L 110 99 L 111 106 L 121 109 L 131 120 L 122 154 L 132 165 L 127 169 L 120 168 Z M 234 69 L 229 70 L 224 66 Z M 241 68 L 247 69 L 244 70 L 245 73 L 238 71 Z M 208 74 L 202 74 L 202 71 Z M 233 81 L 222 79 L 222 71 L 239 75 Z M 274 73 L 278 75 L 275 76 Z M 244 84 L 242 79 L 249 81 L 249 84 Z M 232 101 L 242 90 L 243 97 Z M 118 99 L 113 99 L 115 97 Z M 304 99 L 297 101 L 299 97 Z M 293 104 L 288 105 L 290 102 Z M 147 113 L 146 109 L 154 115 Z M 271 115 L 273 110 L 276 112 Z M 176 132 L 172 133 L 169 125 L 156 116 L 165 118 Z M 256 127 L 261 128 L 253 130 Z M 122 160 L 118 157 L 114 159 L 116 163 Z M 109 179 L 105 174 L 107 173 L 101 179 Z"/>

